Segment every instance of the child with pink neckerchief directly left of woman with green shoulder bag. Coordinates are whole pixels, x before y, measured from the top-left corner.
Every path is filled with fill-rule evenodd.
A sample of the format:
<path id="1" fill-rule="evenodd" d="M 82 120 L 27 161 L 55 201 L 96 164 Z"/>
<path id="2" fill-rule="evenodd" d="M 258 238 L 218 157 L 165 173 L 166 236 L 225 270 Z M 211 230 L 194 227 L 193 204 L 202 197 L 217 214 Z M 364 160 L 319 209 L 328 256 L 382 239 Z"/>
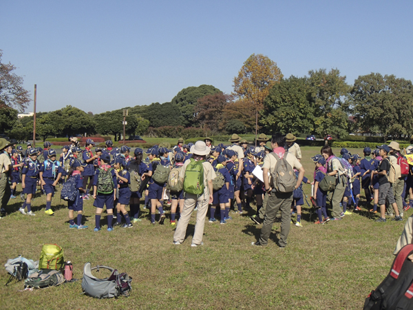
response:
<path id="1" fill-rule="evenodd" d="M 324 179 L 324 176 L 326 176 L 327 173 L 327 169 L 325 167 L 326 159 L 321 155 L 316 155 L 314 157 L 311 157 L 311 159 L 313 159 L 313 163 L 315 163 L 313 199 L 315 200 L 315 208 L 317 210 L 317 216 L 319 218 L 319 220 L 317 220 L 315 224 L 323 225 L 324 223 L 330 221 L 330 218 L 328 218 L 327 216 L 326 209 L 327 192 L 324 192 L 319 187 L 319 183 Z M 322 215 L 324 215 L 324 220 L 322 218 Z"/>

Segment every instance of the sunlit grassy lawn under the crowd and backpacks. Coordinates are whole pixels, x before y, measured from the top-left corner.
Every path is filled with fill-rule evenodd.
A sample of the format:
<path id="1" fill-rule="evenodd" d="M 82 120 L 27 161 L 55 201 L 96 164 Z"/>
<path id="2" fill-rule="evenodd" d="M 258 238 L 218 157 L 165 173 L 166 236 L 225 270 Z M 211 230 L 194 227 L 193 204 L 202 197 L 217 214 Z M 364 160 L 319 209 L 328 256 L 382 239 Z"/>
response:
<path id="1" fill-rule="evenodd" d="M 301 147 L 311 180 L 310 156 L 319 149 Z M 335 152 L 339 154 L 338 149 Z M 361 149 L 350 152 L 361 154 Z M 309 196 L 310 185 L 304 185 L 304 191 Z M 69 229 L 66 203 L 59 196 L 56 193 L 52 203 L 53 217 L 44 213 L 45 196 L 32 202 L 34 217 L 16 211 L 20 198 L 10 200 L 8 209 L 13 211 L 0 220 L 0 262 L 19 254 L 39 260 L 42 245 L 56 243 L 63 247 L 65 260 L 73 262 L 79 281 L 23 292 L 21 283 L 1 285 L 1 309 L 361 309 L 364 298 L 388 273 L 405 223 L 374 223 L 361 198 L 360 214 L 322 226 L 313 225 L 315 217 L 310 219 L 310 209 L 304 205 L 304 227 L 292 225 L 286 249 L 275 244 L 279 223 L 268 247 L 252 247 L 260 226 L 248 218 L 251 214 L 233 214 L 227 225 L 206 223 L 204 245 L 192 248 L 194 216 L 187 240 L 176 246 L 169 222 L 151 226 L 146 209 L 142 222 L 132 229 L 109 233 L 103 216 L 102 231 L 94 232 L 92 199 L 84 203 L 89 229 Z M 405 218 L 411 214 L 405 212 Z M 129 273 L 131 296 L 97 300 L 81 295 L 85 262 Z M 0 282 L 7 280 L 5 269 L 0 269 Z"/>

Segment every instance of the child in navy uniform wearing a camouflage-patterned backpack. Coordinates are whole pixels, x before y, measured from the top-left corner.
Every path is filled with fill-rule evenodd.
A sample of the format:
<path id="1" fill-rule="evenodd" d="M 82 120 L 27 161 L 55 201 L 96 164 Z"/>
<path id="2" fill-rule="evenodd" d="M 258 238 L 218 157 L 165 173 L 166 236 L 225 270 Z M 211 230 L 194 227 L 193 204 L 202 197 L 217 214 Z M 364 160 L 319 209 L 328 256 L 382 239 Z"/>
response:
<path id="1" fill-rule="evenodd" d="M 116 199 L 118 182 L 114 169 L 109 165 L 109 153 L 103 152 L 103 154 L 100 155 L 100 161 L 102 161 L 103 163 L 96 170 L 96 174 L 94 175 L 93 180 L 93 198 L 95 200 L 93 205 L 94 207 L 96 207 L 96 224 L 94 231 L 100 231 L 100 216 L 105 205 L 107 211 L 107 231 L 112 231 L 112 220 L 114 218 L 114 200 Z"/>

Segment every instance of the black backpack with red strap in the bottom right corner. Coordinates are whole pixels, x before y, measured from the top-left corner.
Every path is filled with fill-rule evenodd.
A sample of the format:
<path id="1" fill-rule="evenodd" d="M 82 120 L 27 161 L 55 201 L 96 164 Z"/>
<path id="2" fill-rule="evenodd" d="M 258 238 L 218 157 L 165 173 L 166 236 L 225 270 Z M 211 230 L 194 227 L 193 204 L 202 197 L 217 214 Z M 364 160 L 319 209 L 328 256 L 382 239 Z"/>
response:
<path id="1" fill-rule="evenodd" d="M 366 298 L 363 310 L 413 309 L 413 262 L 407 258 L 412 254 L 412 244 L 401 248 L 388 276 Z"/>

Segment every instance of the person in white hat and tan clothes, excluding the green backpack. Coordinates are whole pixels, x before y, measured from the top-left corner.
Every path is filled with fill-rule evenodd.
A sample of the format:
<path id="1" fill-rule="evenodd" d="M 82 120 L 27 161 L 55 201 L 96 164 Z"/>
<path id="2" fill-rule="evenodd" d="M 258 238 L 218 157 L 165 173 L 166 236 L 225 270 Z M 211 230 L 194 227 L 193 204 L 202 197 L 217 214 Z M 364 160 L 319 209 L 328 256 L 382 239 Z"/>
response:
<path id="1" fill-rule="evenodd" d="M 204 166 L 204 194 L 197 196 L 194 194 L 185 193 L 184 209 L 182 210 L 178 225 L 176 226 L 175 234 L 173 235 L 173 244 L 180 245 L 184 242 L 192 211 L 195 209 L 195 205 L 198 205 L 195 231 L 193 233 L 191 243 L 191 247 L 197 247 L 198 245 L 203 244 L 202 236 L 204 235 L 205 217 L 207 216 L 208 205 L 211 204 L 213 200 L 212 180 L 216 177 L 216 174 L 212 165 L 208 161 L 205 161 L 206 156 L 209 154 L 209 148 L 204 141 L 197 141 L 195 145 L 191 147 L 190 152 L 193 154 L 192 158 L 195 159 L 195 161 L 204 161 L 202 163 Z M 182 167 L 180 171 L 180 176 L 182 179 L 184 178 L 185 170 L 187 169 L 189 163 L 191 163 L 190 159 L 185 161 L 184 167 Z"/>

